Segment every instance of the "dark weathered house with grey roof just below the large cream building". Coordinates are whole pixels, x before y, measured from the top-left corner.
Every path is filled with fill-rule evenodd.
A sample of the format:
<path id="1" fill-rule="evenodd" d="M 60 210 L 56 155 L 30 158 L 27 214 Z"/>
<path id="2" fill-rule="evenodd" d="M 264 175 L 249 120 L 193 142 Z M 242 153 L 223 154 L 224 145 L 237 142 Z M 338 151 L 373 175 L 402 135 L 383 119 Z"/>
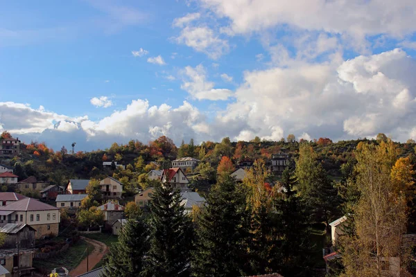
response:
<path id="1" fill-rule="evenodd" d="M 28 224 L 0 223 L 0 233 L 7 234 L 3 249 L 15 248 L 17 242 L 21 248 L 35 247 L 36 230 Z"/>

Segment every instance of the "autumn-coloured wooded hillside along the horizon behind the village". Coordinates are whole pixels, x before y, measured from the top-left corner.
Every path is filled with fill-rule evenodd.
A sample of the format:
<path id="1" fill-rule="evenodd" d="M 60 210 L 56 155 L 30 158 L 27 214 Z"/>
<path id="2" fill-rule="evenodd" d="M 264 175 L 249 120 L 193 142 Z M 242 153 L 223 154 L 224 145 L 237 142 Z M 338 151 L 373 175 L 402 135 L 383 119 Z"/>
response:
<path id="1" fill-rule="evenodd" d="M 331 139 L 320 138 L 314 141 L 297 141 L 293 135 L 281 141 L 261 141 L 256 138 L 252 141 L 231 142 L 224 138 L 220 143 L 211 141 L 195 145 L 193 140 L 189 143 L 182 142 L 178 147 L 171 139 L 161 136 L 147 144 L 140 141 L 129 141 L 125 145 L 113 143 L 110 148 L 92 152 L 76 152 L 72 154 L 65 147 L 60 150 L 52 150 L 45 143 L 22 143 L 21 154 L 12 159 L 0 157 L 0 163 L 15 167 L 15 174 L 19 179 L 35 176 L 39 180 L 50 181 L 51 184 L 64 185 L 68 179 L 101 178 L 106 175 L 121 179 L 124 184 L 132 188 L 141 186 L 145 182 L 144 175 L 155 165 L 150 161 L 156 161 L 162 168 L 168 168 L 170 161 L 180 157 L 195 157 L 202 163 L 194 170 L 193 175 L 215 175 L 218 163 L 223 156 L 229 157 L 234 164 L 243 159 L 264 159 L 268 161 L 272 154 L 288 152 L 291 159 L 297 158 L 300 143 L 309 143 L 318 155 L 318 161 L 327 170 L 328 175 L 340 177 L 341 166 L 347 161 L 354 162 L 354 150 L 360 141 L 378 143 L 387 138 L 383 134 L 377 136 L 378 140 L 358 139 L 352 141 L 338 141 L 333 143 Z M 396 143 L 400 156 L 410 156 L 412 163 L 416 163 L 414 157 L 415 141 Z M 103 161 L 116 161 L 124 165 L 125 170 L 103 168 Z M 214 177 L 205 176 L 208 181 L 214 181 Z M 209 180 L 209 179 L 213 180 Z"/>

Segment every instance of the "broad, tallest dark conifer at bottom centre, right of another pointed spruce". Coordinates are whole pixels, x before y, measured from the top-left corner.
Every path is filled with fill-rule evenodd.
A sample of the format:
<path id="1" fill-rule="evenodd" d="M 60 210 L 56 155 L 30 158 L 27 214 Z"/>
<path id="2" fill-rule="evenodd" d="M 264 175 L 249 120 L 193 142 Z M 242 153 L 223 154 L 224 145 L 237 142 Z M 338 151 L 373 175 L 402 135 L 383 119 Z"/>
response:
<path id="1" fill-rule="evenodd" d="M 229 175 L 211 188 L 196 220 L 194 276 L 241 276 L 247 260 L 245 201 L 243 190 Z"/>

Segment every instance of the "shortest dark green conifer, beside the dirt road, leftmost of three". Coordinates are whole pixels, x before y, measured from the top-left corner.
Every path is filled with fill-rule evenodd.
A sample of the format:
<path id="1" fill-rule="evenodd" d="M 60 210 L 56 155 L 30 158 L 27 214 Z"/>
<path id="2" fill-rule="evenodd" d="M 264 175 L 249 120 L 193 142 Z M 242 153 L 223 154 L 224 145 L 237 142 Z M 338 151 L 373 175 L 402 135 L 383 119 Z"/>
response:
<path id="1" fill-rule="evenodd" d="M 110 247 L 103 277 L 140 277 L 144 255 L 148 250 L 148 226 L 144 219 L 128 220 L 123 225 L 119 242 Z"/>

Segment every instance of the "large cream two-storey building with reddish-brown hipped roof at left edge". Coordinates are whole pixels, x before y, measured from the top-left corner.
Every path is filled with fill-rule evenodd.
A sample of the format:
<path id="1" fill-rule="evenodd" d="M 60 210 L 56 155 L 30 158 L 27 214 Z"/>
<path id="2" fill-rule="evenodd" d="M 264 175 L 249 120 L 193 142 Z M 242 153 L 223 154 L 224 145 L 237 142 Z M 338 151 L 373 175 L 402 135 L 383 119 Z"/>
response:
<path id="1" fill-rule="evenodd" d="M 58 235 L 60 211 L 59 208 L 40 202 L 33 198 L 24 198 L 0 206 L 0 223 L 28 224 L 36 230 L 36 238 L 44 235 Z"/>

